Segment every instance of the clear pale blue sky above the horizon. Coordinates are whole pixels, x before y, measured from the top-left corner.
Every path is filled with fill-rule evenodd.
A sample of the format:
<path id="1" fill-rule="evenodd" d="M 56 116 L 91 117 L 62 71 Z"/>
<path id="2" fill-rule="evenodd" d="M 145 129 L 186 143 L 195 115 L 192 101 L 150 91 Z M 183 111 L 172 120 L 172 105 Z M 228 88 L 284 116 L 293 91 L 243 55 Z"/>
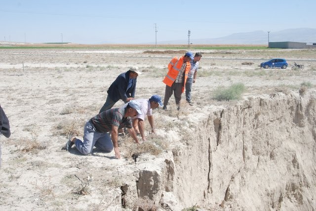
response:
<path id="1" fill-rule="evenodd" d="M 0 41 L 141 44 L 316 29 L 316 0 L 0 0 Z"/>

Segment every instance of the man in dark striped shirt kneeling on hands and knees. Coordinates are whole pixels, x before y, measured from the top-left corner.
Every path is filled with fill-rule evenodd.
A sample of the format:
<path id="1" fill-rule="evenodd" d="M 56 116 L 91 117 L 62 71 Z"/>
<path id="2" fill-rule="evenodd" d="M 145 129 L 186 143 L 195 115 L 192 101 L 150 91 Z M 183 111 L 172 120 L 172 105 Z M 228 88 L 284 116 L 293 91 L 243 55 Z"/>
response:
<path id="1" fill-rule="evenodd" d="M 76 137 L 70 138 L 66 143 L 66 150 L 69 151 L 75 144 L 80 153 L 88 155 L 92 153 L 94 146 L 105 152 L 111 152 L 114 148 L 115 156 L 120 158 L 118 129 L 126 127 L 130 136 L 138 143 L 131 117 L 141 114 L 140 109 L 140 104 L 131 100 L 126 107 L 112 108 L 97 114 L 85 124 L 83 141 Z M 108 132 L 111 132 L 111 137 Z"/>

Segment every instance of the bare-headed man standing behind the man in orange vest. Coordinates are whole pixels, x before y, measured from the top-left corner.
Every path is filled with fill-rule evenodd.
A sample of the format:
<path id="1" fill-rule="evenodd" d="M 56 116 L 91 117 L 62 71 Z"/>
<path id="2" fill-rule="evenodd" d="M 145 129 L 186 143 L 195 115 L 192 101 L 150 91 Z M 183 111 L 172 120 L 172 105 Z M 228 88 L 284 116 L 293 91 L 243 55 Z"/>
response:
<path id="1" fill-rule="evenodd" d="M 190 106 L 193 106 L 193 103 L 191 101 L 191 88 L 192 88 L 192 84 L 196 82 L 197 70 L 198 70 L 198 64 L 199 64 L 198 62 L 200 61 L 201 57 L 202 57 L 201 53 L 196 53 L 196 55 L 194 55 L 194 59 L 190 61 L 191 70 L 189 71 L 188 79 L 186 82 L 186 100 Z"/>

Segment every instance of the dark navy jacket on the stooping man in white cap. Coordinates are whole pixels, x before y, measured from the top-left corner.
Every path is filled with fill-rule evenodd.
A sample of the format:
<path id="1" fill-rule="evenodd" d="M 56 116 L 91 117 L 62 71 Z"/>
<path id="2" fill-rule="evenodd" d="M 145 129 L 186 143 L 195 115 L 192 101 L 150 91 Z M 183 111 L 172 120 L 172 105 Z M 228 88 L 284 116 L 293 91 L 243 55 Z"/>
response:
<path id="1" fill-rule="evenodd" d="M 109 87 L 108 95 L 114 102 L 118 102 L 119 99 L 125 102 L 127 98 L 135 97 L 137 78 L 132 79 L 132 86 L 126 90 L 129 82 L 130 72 L 131 71 L 128 70 L 127 72 L 119 74 L 117 79 L 115 79 L 115 81 Z"/>

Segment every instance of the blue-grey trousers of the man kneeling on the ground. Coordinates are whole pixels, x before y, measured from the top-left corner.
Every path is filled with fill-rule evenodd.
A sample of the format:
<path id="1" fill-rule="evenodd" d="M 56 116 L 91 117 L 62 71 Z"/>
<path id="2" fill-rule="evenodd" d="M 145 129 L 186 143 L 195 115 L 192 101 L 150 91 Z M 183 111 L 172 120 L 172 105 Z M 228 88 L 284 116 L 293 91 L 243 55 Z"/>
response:
<path id="1" fill-rule="evenodd" d="M 75 145 L 78 151 L 84 155 L 91 154 L 94 146 L 105 152 L 113 150 L 110 135 L 96 132 L 90 121 L 85 123 L 83 141 L 77 139 Z"/>

